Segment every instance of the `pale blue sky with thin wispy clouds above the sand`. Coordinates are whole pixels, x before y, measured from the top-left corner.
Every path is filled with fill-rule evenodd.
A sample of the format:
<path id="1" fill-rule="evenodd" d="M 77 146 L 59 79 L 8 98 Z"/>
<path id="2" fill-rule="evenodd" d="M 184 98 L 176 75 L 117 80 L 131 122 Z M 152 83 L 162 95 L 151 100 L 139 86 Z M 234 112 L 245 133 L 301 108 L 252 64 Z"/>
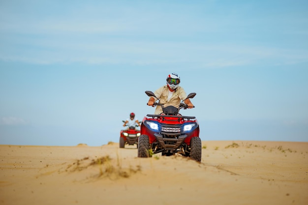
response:
<path id="1" fill-rule="evenodd" d="M 307 0 L 1 0 L 0 144 L 119 142 L 181 77 L 200 138 L 308 142 Z"/>

